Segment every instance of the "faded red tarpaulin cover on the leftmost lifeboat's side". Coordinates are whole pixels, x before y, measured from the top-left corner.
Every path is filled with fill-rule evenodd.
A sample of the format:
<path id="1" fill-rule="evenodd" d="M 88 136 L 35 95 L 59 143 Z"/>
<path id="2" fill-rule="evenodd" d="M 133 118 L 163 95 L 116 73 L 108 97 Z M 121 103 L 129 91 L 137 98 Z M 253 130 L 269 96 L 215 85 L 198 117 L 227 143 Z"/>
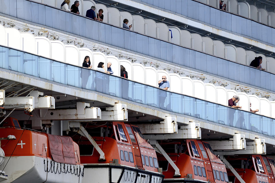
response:
<path id="1" fill-rule="evenodd" d="M 71 137 L 47 134 L 52 159 L 58 163 L 76 164 L 74 144 Z"/>

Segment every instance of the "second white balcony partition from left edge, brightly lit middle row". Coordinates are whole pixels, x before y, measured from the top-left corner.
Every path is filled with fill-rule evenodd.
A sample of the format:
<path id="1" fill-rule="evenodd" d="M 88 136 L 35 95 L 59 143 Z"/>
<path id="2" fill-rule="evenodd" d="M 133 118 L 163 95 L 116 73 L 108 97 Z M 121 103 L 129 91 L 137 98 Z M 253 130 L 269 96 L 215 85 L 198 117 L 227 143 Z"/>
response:
<path id="1" fill-rule="evenodd" d="M 14 28 L 5 28 L 5 31 L 6 31 L 7 46 L 18 50 L 22 50 L 20 32 Z"/>

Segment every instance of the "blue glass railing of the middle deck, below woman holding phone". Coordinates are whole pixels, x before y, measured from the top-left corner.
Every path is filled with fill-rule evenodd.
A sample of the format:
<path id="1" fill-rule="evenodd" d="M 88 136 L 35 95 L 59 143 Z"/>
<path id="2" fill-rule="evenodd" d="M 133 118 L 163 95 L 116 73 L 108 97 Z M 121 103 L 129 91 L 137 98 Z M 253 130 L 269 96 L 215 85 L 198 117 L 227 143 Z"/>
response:
<path id="1" fill-rule="evenodd" d="M 270 72 L 95 21 L 55 7 L 28 0 L 3 0 L 0 13 L 275 92 L 275 74 Z"/>

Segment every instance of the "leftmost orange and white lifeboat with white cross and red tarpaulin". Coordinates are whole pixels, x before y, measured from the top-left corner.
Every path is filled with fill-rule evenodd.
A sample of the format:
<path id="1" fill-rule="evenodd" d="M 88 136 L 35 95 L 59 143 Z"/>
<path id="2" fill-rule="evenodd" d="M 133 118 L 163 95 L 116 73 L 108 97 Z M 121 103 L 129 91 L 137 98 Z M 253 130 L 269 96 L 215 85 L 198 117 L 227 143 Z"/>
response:
<path id="1" fill-rule="evenodd" d="M 0 139 L 5 153 L 2 164 L 0 159 L 0 182 L 82 182 L 79 147 L 71 137 L 22 129 L 17 119 L 7 117 L 0 126 Z"/>

